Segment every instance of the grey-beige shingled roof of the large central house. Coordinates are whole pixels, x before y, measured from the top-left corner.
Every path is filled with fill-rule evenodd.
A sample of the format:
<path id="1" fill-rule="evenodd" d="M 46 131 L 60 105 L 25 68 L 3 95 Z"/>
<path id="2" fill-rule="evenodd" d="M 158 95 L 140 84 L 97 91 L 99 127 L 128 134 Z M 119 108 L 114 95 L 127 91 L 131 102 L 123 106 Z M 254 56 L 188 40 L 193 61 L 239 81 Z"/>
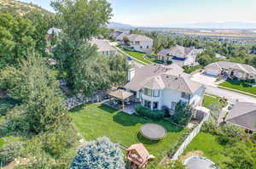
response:
<path id="1" fill-rule="evenodd" d="M 175 64 L 170 66 L 152 64 L 137 68 L 131 82 L 125 85 L 125 88 L 134 91 L 143 87 L 151 89 L 170 88 L 184 93 L 195 93 L 202 85 L 191 81 L 190 75 L 183 73 L 183 69 Z"/>

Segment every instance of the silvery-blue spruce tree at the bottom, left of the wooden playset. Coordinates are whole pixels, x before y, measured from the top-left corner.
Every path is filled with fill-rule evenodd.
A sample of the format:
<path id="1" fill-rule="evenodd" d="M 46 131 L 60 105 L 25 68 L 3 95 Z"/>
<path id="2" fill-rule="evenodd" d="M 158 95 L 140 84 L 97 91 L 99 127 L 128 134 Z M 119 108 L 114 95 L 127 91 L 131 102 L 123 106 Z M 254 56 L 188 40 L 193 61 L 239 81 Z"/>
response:
<path id="1" fill-rule="evenodd" d="M 70 166 L 70 169 L 77 168 L 125 169 L 119 144 L 113 144 L 106 137 L 84 144 Z"/>

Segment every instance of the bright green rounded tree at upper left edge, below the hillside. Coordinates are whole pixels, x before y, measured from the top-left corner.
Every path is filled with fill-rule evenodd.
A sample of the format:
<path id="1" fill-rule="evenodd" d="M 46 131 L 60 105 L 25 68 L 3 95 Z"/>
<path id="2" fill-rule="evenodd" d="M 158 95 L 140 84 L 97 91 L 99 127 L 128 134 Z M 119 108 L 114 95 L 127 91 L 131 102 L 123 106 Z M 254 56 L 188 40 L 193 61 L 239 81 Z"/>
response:
<path id="1" fill-rule="evenodd" d="M 0 68 L 26 59 L 27 50 L 34 48 L 35 27 L 30 20 L 10 14 L 0 14 Z"/>

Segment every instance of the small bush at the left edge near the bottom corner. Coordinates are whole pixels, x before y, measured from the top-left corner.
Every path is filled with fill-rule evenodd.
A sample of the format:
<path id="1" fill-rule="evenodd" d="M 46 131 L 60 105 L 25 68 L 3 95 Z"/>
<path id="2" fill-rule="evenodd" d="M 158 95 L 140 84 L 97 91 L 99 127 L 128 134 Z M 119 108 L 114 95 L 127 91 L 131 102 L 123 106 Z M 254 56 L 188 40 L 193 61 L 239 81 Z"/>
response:
<path id="1" fill-rule="evenodd" d="M 0 149 L 0 164 L 5 165 L 14 161 L 16 157 L 20 156 L 21 148 L 22 144 L 20 142 L 4 144 L 3 148 Z"/>

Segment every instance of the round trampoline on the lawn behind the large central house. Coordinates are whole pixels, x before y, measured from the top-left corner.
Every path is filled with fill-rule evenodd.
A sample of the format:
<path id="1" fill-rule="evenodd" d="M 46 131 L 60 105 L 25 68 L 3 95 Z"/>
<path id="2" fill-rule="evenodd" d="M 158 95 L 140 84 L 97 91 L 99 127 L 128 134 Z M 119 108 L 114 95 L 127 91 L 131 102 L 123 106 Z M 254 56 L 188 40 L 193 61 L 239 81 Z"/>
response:
<path id="1" fill-rule="evenodd" d="M 143 137 L 151 140 L 160 140 L 166 137 L 166 128 L 154 123 L 143 125 L 140 132 Z"/>

